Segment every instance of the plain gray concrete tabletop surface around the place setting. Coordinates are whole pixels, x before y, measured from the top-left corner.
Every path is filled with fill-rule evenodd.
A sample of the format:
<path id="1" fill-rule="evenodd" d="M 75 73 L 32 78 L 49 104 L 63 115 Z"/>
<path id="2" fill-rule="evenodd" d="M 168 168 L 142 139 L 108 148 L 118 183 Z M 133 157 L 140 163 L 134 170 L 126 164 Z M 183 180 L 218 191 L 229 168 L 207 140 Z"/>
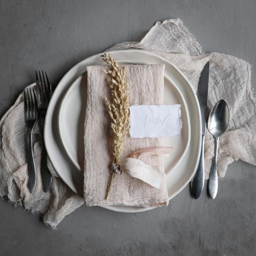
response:
<path id="1" fill-rule="evenodd" d="M 253 65 L 254 0 L 0 0 L 0 116 L 35 69 L 53 85 L 76 63 L 122 41 L 138 41 L 157 21 L 181 18 L 207 52 Z M 0 200 L 0 255 L 256 255 L 256 167 L 238 161 L 215 200 L 189 186 L 162 207 L 138 214 L 80 207 L 51 230 L 40 215 Z"/>

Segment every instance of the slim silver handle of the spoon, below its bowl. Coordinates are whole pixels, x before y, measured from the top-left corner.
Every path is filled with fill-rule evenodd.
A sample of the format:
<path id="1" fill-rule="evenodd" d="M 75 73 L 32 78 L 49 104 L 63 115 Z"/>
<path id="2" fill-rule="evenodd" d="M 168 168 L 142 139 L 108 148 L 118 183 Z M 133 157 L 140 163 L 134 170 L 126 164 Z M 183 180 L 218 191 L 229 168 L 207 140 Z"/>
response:
<path id="1" fill-rule="evenodd" d="M 208 181 L 208 194 L 212 199 L 216 197 L 217 191 L 218 191 L 218 175 L 217 175 L 218 145 L 219 145 L 219 137 L 215 138 L 214 160 L 213 160 L 213 166 L 211 167 L 210 177 Z"/>

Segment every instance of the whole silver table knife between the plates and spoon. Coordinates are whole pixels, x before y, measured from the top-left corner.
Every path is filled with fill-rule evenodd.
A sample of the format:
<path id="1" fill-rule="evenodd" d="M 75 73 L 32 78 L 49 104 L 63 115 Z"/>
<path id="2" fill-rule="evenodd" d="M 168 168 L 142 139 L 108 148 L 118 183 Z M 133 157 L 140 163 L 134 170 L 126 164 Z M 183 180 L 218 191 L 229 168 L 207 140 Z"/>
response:
<path id="1" fill-rule="evenodd" d="M 206 129 L 206 111 L 207 111 L 207 102 L 208 102 L 208 85 L 209 85 L 209 71 L 210 71 L 210 62 L 208 61 L 203 67 L 201 73 L 197 98 L 200 105 L 201 111 L 201 120 L 202 120 L 202 145 L 201 145 L 201 154 L 197 172 L 195 173 L 194 178 L 191 182 L 191 193 L 194 199 L 198 199 L 203 191 L 203 185 L 205 183 L 205 163 L 204 163 L 204 144 L 205 144 L 205 129 Z"/>

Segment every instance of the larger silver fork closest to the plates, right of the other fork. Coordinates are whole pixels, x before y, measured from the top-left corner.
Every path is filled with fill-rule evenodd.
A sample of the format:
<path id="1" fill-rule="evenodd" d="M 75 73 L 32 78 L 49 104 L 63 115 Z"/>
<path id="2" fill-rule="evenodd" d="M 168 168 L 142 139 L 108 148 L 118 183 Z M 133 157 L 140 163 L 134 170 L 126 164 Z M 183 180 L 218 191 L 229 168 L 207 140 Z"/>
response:
<path id="1" fill-rule="evenodd" d="M 41 173 L 42 189 L 44 192 L 47 192 L 51 185 L 51 174 L 47 167 L 47 151 L 45 148 L 45 141 L 43 139 L 43 131 L 45 126 L 46 111 L 47 111 L 47 107 L 48 107 L 50 96 L 51 96 L 51 86 L 50 86 L 50 82 L 46 74 L 46 71 L 45 71 L 45 74 L 42 71 L 42 76 L 40 71 L 38 71 L 38 73 L 39 73 L 39 79 L 38 79 L 37 71 L 35 71 L 36 82 L 37 82 L 38 109 L 40 112 L 41 126 L 42 126 L 42 159 L 41 159 L 40 173 Z"/>

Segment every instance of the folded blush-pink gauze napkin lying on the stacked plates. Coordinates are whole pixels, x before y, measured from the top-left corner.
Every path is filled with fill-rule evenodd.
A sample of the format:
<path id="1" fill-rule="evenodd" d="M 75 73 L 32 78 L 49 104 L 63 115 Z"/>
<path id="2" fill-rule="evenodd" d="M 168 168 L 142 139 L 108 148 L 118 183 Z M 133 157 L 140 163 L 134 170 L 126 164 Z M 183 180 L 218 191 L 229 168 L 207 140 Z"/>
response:
<path id="1" fill-rule="evenodd" d="M 103 97 L 110 98 L 110 89 L 103 72 L 106 65 L 87 67 L 87 107 L 85 117 L 85 179 L 84 200 L 87 206 L 168 205 L 165 176 L 159 189 L 126 173 L 116 175 L 108 200 L 105 200 L 111 176 L 113 156 L 111 152 L 111 120 Z M 129 84 L 130 105 L 163 103 L 163 78 L 165 65 L 126 65 L 126 80 Z M 161 146 L 161 138 L 126 137 L 121 161 L 131 153 L 145 147 Z M 158 155 L 143 157 L 147 165 L 158 166 L 164 173 L 163 159 Z"/>

